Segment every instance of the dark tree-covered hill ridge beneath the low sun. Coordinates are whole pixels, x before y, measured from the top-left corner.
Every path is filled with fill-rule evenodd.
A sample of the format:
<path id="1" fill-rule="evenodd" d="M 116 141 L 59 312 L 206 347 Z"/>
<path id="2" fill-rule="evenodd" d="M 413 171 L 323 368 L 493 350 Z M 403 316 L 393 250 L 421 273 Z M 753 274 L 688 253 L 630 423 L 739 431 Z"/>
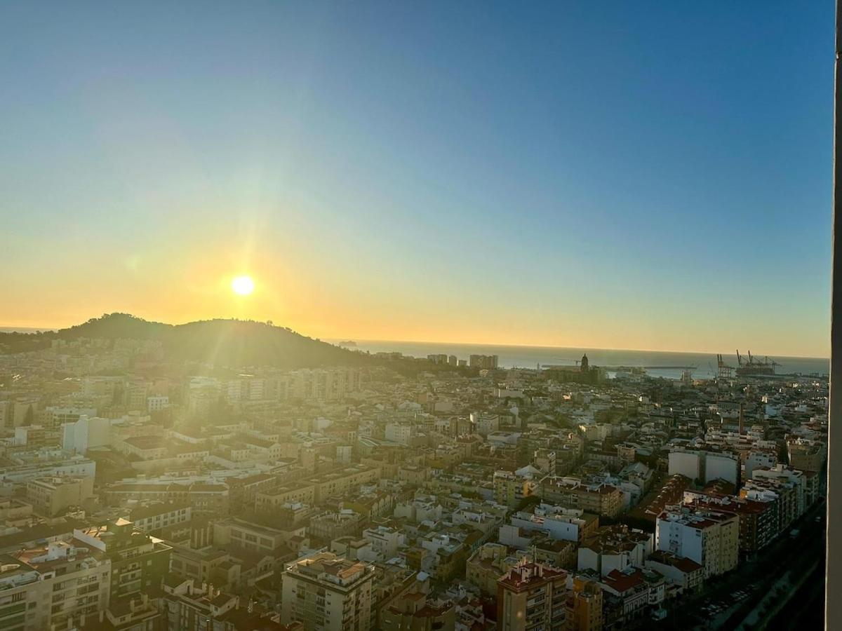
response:
<path id="1" fill-rule="evenodd" d="M 80 337 L 157 340 L 168 357 L 218 366 L 274 366 L 283 369 L 371 365 L 372 358 L 257 321 L 208 320 L 172 325 L 111 313 L 59 331 L 0 333 L 3 353 L 48 348 L 51 341 Z"/>

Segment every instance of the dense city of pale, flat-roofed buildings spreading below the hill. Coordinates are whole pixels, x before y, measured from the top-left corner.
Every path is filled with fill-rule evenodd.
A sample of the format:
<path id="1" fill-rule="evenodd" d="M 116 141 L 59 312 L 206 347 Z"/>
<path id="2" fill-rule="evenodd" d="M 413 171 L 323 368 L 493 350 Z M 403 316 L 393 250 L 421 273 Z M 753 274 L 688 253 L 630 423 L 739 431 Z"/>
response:
<path id="1" fill-rule="evenodd" d="M 21 339 L 0 342 L 0 628 L 749 629 L 820 608 L 824 375 Z"/>

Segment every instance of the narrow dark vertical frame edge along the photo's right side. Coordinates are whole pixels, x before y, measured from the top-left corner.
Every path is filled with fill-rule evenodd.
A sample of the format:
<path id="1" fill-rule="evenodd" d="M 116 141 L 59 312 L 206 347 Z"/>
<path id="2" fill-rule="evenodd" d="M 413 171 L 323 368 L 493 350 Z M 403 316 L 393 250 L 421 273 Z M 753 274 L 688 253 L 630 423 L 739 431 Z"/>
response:
<path id="1" fill-rule="evenodd" d="M 842 50 L 842 0 L 836 0 L 834 59 L 834 197 L 833 277 L 830 304 L 830 401 L 828 426 L 827 559 L 825 564 L 824 627 L 842 629 L 842 607 L 834 597 L 842 593 L 842 159 L 839 114 L 842 92 L 839 81 L 839 50 Z M 839 460 L 839 464 L 834 464 Z M 834 604 L 831 604 L 834 603 Z"/>

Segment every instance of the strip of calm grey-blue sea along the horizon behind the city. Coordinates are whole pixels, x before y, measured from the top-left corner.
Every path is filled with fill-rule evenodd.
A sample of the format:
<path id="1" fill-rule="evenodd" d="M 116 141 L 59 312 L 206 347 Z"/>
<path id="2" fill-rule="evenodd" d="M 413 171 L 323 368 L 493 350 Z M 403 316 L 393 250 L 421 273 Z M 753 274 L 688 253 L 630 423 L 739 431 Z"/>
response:
<path id="1" fill-rule="evenodd" d="M 398 352 L 413 357 L 447 353 L 467 359 L 470 355 L 497 355 L 502 368 L 530 368 L 547 365 L 574 365 L 584 354 L 591 366 L 658 367 L 647 368 L 647 374 L 664 379 L 680 379 L 685 367 L 692 367 L 695 379 L 709 379 L 717 374 L 716 353 L 674 353 L 668 351 L 622 351 L 610 348 L 573 348 L 538 346 L 493 346 L 487 344 L 447 344 L 436 342 L 389 342 L 382 340 L 355 340 L 356 350 L 370 353 Z M 338 343 L 338 341 L 334 342 Z M 765 356 L 759 355 L 760 358 Z M 776 374 L 817 374 L 830 372 L 828 358 L 781 357 L 774 359 L 780 365 Z M 723 354 L 729 366 L 736 367 L 737 355 Z M 609 372 L 609 376 L 613 376 Z"/>

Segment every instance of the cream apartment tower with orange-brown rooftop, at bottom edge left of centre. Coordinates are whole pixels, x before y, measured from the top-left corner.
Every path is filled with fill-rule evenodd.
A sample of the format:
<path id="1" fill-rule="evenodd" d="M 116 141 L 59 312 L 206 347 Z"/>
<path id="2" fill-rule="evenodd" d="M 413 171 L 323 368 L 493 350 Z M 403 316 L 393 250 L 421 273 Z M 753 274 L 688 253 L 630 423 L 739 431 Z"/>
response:
<path id="1" fill-rule="evenodd" d="M 375 569 L 330 552 L 298 559 L 282 575 L 281 623 L 306 631 L 366 631 Z"/>

